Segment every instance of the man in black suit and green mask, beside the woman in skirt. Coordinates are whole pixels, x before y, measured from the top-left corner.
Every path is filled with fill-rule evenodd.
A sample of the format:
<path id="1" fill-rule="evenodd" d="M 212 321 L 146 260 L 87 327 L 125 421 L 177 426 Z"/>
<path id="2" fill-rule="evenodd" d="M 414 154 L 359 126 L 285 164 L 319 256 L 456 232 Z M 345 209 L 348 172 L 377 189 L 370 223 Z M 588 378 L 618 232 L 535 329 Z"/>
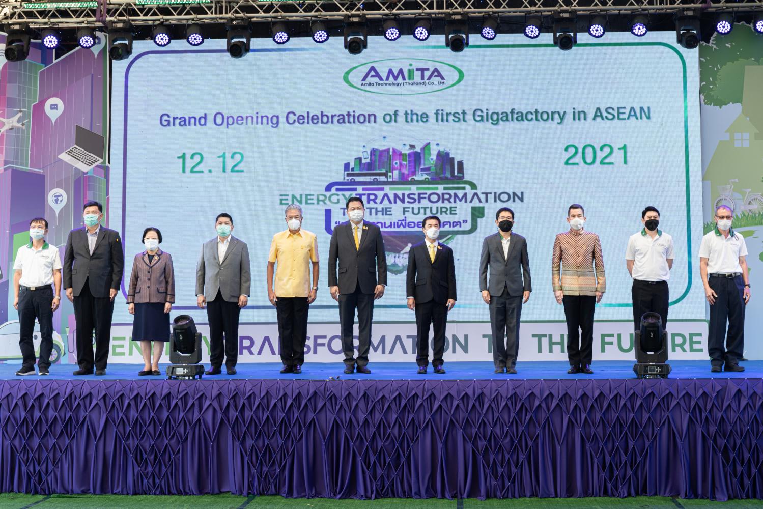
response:
<path id="1" fill-rule="evenodd" d="M 114 298 L 122 284 L 124 251 L 118 232 L 101 226 L 103 205 L 88 201 L 82 211 L 84 228 L 69 232 L 63 255 L 63 286 L 74 303 L 77 321 L 75 375 L 106 374 Z M 93 358 L 95 330 L 95 359 Z"/>

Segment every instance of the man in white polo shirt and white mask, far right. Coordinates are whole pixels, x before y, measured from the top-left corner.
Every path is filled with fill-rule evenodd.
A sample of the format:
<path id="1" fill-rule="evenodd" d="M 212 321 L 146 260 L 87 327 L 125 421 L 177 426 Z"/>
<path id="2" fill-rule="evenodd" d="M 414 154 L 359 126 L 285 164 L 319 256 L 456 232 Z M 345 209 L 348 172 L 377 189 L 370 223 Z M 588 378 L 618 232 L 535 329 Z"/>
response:
<path id="1" fill-rule="evenodd" d="M 716 227 L 702 237 L 700 274 L 705 298 L 710 302 L 707 352 L 710 371 L 741 372 L 739 359 L 745 350 L 745 306 L 750 301 L 745 237 L 731 227 L 734 212 L 726 205 L 716 208 Z M 726 333 L 726 321 L 729 331 Z M 723 337 L 726 337 L 724 350 Z"/>

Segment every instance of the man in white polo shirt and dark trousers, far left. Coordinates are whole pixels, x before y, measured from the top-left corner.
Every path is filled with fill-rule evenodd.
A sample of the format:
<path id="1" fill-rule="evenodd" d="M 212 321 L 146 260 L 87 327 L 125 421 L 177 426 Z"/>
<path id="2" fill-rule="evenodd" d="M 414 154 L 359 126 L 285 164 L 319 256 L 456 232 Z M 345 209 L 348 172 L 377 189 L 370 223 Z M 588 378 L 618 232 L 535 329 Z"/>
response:
<path id="1" fill-rule="evenodd" d="M 18 248 L 13 278 L 13 307 L 18 310 L 21 327 L 18 346 L 22 364 L 17 375 L 34 375 L 34 321 L 40 322 L 40 375 L 50 369 L 53 350 L 53 311 L 61 304 L 61 256 L 56 247 L 45 242 L 48 224 L 35 217 L 29 224 L 31 242 Z M 55 285 L 55 292 L 51 285 Z"/>

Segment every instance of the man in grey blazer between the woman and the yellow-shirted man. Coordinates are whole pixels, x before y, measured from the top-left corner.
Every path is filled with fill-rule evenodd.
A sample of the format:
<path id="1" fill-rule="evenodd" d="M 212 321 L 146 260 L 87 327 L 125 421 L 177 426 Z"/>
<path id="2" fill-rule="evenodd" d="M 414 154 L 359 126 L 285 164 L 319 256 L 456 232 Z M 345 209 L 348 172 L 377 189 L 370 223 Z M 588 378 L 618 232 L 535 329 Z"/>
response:
<path id="1" fill-rule="evenodd" d="M 225 357 L 227 374 L 235 375 L 239 314 L 249 301 L 252 283 L 249 248 L 230 234 L 230 214 L 218 214 L 214 227 L 217 237 L 204 243 L 196 265 L 196 304 L 207 307 L 211 367 L 206 374 L 219 375 Z"/>

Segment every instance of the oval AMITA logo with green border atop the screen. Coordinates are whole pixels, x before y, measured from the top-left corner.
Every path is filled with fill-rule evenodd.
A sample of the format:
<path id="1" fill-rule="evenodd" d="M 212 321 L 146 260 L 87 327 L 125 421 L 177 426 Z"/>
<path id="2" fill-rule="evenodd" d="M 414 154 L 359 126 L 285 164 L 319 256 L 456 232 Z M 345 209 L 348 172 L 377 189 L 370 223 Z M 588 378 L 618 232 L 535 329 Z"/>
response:
<path id="1" fill-rule="evenodd" d="M 374 60 L 344 73 L 344 82 L 353 89 L 386 95 L 430 94 L 463 79 L 464 72 L 456 66 L 420 58 Z"/>

